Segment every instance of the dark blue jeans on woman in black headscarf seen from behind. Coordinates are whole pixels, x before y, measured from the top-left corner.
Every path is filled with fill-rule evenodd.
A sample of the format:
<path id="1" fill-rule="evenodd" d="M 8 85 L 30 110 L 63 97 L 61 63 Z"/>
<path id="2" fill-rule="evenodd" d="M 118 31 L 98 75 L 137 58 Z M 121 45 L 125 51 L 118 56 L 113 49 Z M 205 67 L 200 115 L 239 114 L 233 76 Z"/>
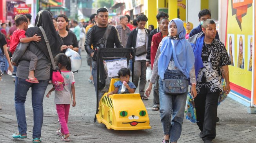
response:
<path id="1" fill-rule="evenodd" d="M 15 111 L 18 122 L 19 134 L 27 134 L 27 122 L 25 115 L 25 101 L 27 97 L 27 91 L 32 89 L 32 106 L 34 113 L 34 127 L 33 138 L 41 138 L 41 129 L 43 125 L 43 100 L 45 90 L 48 86 L 49 80 L 39 80 L 38 84 L 33 84 L 16 77 L 15 80 Z"/>

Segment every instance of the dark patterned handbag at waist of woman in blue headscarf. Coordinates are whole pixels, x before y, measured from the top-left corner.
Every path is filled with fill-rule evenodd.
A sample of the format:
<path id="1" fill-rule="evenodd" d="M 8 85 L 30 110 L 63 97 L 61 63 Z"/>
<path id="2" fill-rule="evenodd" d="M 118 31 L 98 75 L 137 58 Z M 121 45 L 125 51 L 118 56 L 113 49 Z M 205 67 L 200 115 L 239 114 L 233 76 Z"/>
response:
<path id="1" fill-rule="evenodd" d="M 163 92 L 167 95 L 181 95 L 188 91 L 188 80 L 164 79 Z"/>

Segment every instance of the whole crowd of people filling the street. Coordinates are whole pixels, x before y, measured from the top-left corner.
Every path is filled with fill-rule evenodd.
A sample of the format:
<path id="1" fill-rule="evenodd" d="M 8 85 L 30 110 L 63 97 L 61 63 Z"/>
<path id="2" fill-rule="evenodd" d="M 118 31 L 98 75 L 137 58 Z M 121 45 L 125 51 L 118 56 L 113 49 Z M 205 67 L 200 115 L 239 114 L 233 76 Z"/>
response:
<path id="1" fill-rule="evenodd" d="M 129 15 L 120 16 L 120 24 L 113 26 L 108 23 L 109 13 L 106 8 L 100 8 L 97 13 L 92 14 L 89 23 L 69 21 L 64 14 L 53 16 L 49 11 L 42 10 L 36 15 L 34 26 L 30 23 L 30 14 L 16 15 L 15 25 L 12 27 L 11 23 L 8 23 L 8 26 L 1 24 L 0 78 L 2 73 L 8 70 L 15 77 L 18 133 L 13 134 L 13 138 L 27 138 L 24 104 L 27 91 L 31 88 L 34 110 L 33 142 L 41 142 L 42 103 L 45 90 L 52 79 L 52 54 L 55 57 L 52 64 L 60 68 L 66 84 L 62 91 L 52 88 L 47 97 L 54 91 L 56 111 L 61 125 L 56 133 L 61 136 L 61 140 L 70 141 L 67 121 L 70 104 L 76 105 L 75 80 L 70 57 L 64 53 L 67 48 L 79 54 L 86 50 L 87 64 L 91 70 L 88 80 L 94 84 L 97 94 L 98 67 L 95 48 L 98 46 L 135 48 L 134 67 L 131 66 L 133 61 L 130 60 L 129 69 L 121 69 L 118 72 L 121 82 L 115 83 L 115 90 L 108 95 L 120 93 L 124 81 L 127 92 L 134 93 L 138 88 L 141 99 L 148 100 L 154 84 L 152 110 L 160 110 L 162 143 L 176 143 L 180 138 L 188 92 L 191 92 L 194 98 L 200 138 L 204 143 L 212 143 L 212 139 L 216 137 L 218 122 L 218 98 L 223 91 L 222 77 L 226 80 L 224 92 L 230 91 L 228 65 L 231 60 L 224 44 L 219 40 L 216 24 L 211 20 L 211 12 L 203 9 L 198 16 L 200 24 L 194 29 L 191 22 L 184 24 L 178 18 L 169 20 L 169 15 L 163 11 L 156 15 L 156 29 L 153 25 L 149 25 L 149 29 L 145 27 L 148 18 L 144 14 L 138 15 L 132 21 Z M 44 29 L 45 34 L 39 27 Z M 49 40 L 51 53 L 47 50 L 45 36 Z M 145 91 L 147 67 L 151 67 L 152 75 Z M 134 76 L 134 82 L 129 82 L 131 74 Z M 191 90 L 186 88 L 185 91 L 173 94 L 165 90 L 167 81 L 172 81 L 172 84 L 182 81 L 185 87 L 191 85 Z M 103 93 L 99 93 L 101 98 Z"/>

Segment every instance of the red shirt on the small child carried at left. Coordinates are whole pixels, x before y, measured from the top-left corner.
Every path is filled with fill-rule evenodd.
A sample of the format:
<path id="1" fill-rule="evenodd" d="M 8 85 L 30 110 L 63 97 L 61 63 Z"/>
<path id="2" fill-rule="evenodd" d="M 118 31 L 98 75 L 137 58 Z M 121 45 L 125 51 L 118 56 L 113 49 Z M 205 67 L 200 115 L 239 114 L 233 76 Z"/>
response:
<path id="1" fill-rule="evenodd" d="M 10 52 L 13 54 L 13 52 L 16 50 L 17 45 L 20 43 L 21 38 L 26 38 L 25 36 L 25 30 L 22 29 L 16 29 L 13 32 L 13 35 L 11 36 L 11 43 L 10 43 Z"/>

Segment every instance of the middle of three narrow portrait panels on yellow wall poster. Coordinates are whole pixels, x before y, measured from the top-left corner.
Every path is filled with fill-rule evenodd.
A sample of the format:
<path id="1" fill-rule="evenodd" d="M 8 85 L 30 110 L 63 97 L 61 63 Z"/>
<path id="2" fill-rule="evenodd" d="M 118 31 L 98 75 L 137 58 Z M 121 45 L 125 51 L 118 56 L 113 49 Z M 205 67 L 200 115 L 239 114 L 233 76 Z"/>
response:
<path id="1" fill-rule="evenodd" d="M 237 35 L 237 67 L 244 69 L 245 68 L 245 36 Z"/>

